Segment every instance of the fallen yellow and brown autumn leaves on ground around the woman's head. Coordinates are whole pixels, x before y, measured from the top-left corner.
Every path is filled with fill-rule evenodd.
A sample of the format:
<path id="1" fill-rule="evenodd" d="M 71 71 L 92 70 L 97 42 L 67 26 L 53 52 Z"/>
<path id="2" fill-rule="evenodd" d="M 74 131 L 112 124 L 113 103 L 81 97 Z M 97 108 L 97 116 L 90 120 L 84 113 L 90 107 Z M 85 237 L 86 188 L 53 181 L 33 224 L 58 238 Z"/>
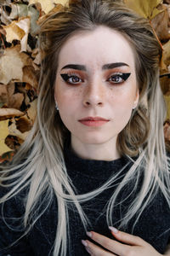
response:
<path id="1" fill-rule="evenodd" d="M 12 159 L 36 117 L 38 20 L 69 1 L 0 0 L 0 162 Z M 167 102 L 164 131 L 170 141 L 170 0 L 123 1 L 148 19 L 161 44 L 161 90 Z"/>

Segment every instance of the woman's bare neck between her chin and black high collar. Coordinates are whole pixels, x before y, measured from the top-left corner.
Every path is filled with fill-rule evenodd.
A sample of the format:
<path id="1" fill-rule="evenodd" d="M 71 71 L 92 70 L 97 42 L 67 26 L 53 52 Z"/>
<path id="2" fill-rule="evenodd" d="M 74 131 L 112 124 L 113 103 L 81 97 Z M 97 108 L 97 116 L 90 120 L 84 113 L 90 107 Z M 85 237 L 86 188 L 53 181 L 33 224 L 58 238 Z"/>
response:
<path id="1" fill-rule="evenodd" d="M 119 154 L 116 148 L 116 142 L 113 141 L 99 144 L 85 144 L 71 137 L 71 147 L 82 159 L 111 161 L 121 157 L 121 154 Z"/>

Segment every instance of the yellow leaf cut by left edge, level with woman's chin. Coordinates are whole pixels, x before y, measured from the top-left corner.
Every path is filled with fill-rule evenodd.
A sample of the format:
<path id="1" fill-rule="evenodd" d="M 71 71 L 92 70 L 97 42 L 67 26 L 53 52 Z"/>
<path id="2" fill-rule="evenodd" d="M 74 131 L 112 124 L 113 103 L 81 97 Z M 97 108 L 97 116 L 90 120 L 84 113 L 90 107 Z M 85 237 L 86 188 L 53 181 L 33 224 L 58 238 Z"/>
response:
<path id="1" fill-rule="evenodd" d="M 0 155 L 11 151 L 5 144 L 5 138 L 8 136 L 8 120 L 0 121 Z"/>

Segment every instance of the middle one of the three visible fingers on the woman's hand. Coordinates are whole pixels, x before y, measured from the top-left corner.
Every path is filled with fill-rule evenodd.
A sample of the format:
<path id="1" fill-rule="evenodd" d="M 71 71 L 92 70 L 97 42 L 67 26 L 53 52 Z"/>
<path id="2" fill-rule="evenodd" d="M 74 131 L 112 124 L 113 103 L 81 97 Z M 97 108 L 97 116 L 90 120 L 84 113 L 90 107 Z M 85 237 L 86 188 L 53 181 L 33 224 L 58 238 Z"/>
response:
<path id="1" fill-rule="evenodd" d="M 117 255 L 127 255 L 127 251 L 129 251 L 128 245 L 124 245 L 119 241 L 115 241 L 106 236 L 102 236 L 94 231 L 87 232 L 87 235 L 94 241 L 98 242 L 102 247 L 105 247 L 111 251 L 111 253 L 116 253 Z"/>

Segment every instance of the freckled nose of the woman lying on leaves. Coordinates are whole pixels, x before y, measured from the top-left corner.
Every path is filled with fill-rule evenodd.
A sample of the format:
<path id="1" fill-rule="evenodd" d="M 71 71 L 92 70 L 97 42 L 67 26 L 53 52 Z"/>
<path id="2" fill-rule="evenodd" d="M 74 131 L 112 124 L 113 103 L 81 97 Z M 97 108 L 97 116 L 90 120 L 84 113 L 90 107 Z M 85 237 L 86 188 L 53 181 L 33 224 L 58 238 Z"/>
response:
<path id="1" fill-rule="evenodd" d="M 102 107 L 105 102 L 105 88 L 104 84 L 99 81 L 90 83 L 84 93 L 83 105 L 85 107 L 89 106 L 99 106 Z"/>

